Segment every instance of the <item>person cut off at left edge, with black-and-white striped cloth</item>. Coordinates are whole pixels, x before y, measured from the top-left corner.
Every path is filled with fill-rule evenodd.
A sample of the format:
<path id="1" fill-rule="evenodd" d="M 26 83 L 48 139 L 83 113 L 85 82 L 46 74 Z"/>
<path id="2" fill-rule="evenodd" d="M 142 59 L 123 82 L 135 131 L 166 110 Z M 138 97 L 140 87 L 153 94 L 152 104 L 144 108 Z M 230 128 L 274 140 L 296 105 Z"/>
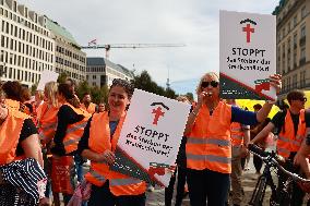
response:
<path id="1" fill-rule="evenodd" d="M 47 205 L 48 201 L 44 196 L 45 179 L 29 181 L 36 180 L 36 177 L 45 178 L 40 169 L 43 160 L 36 126 L 31 117 L 3 104 L 0 105 L 0 205 Z M 21 168 L 22 161 L 27 167 Z M 25 171 L 31 172 L 19 175 Z M 36 177 L 32 175 L 33 172 Z M 38 196 L 28 195 L 27 190 L 36 187 L 38 190 L 32 194 Z M 34 197 L 37 199 L 35 203 Z"/>

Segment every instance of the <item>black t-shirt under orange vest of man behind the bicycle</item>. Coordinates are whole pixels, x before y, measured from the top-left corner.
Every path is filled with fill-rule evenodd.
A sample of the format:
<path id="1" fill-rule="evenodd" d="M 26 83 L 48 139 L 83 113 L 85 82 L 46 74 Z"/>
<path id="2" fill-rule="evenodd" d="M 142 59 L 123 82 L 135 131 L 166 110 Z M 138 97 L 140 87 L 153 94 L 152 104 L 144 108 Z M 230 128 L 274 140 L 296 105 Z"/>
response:
<path id="1" fill-rule="evenodd" d="M 290 110 L 288 109 L 288 110 L 277 112 L 271 121 L 275 125 L 277 134 L 282 131 L 282 129 L 284 126 L 286 112 L 290 112 Z M 306 111 L 305 113 L 306 113 L 305 114 L 306 128 L 310 128 L 310 112 Z M 294 113 L 290 112 L 290 117 L 291 117 L 291 120 L 293 120 L 293 123 L 294 123 L 294 131 L 295 131 L 295 135 L 296 135 L 297 131 L 298 131 L 299 113 L 294 114 Z"/>

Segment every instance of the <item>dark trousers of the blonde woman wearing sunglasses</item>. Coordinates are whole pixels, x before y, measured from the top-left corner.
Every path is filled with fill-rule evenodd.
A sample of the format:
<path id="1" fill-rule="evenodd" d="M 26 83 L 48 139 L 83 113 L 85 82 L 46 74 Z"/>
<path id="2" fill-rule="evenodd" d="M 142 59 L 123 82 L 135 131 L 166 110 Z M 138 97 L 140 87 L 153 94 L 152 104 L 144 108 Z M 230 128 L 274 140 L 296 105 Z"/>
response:
<path id="1" fill-rule="evenodd" d="M 225 206 L 229 173 L 188 169 L 187 181 L 192 206 Z"/>

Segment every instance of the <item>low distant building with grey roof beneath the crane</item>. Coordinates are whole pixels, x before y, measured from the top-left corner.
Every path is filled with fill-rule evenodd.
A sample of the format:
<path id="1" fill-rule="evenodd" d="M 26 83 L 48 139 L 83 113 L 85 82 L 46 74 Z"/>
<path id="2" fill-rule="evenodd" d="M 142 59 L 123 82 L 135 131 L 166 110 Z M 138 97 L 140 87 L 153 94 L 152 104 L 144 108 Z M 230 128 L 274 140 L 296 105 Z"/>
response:
<path id="1" fill-rule="evenodd" d="M 114 78 L 131 81 L 133 73 L 105 58 L 87 58 L 86 80 L 91 86 L 110 86 Z"/>

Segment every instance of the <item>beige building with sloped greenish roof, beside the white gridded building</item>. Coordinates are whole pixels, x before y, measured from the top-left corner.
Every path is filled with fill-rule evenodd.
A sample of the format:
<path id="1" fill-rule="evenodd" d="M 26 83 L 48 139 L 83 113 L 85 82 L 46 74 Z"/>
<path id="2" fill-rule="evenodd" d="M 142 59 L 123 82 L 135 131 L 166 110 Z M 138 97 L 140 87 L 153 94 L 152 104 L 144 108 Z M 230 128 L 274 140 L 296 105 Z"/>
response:
<path id="1" fill-rule="evenodd" d="M 73 36 L 57 22 L 46 19 L 46 26 L 55 40 L 55 71 L 67 73 L 76 82 L 85 80 L 86 53 L 83 52 Z"/>

